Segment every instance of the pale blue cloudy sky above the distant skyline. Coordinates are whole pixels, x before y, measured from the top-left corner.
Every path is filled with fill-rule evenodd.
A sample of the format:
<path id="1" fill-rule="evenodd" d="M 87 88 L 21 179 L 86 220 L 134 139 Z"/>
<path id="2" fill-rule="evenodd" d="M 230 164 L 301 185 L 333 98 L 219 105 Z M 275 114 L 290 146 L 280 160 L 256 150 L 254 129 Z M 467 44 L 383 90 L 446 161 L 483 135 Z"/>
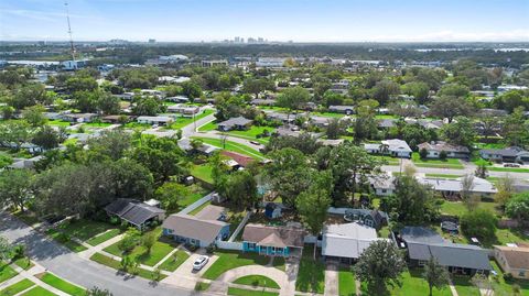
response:
<path id="1" fill-rule="evenodd" d="M 529 42 L 529 0 L 68 0 L 76 41 Z M 68 40 L 64 0 L 0 0 L 0 40 Z"/>

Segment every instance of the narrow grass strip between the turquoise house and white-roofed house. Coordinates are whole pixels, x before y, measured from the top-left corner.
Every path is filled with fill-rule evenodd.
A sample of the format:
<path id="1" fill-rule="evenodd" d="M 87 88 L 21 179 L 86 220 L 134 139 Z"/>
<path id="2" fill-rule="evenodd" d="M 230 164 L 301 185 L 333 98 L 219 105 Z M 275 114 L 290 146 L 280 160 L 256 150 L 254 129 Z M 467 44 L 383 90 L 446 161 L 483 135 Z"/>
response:
<path id="1" fill-rule="evenodd" d="M 300 270 L 295 281 L 295 289 L 323 294 L 325 288 L 325 265 L 313 257 L 314 244 L 305 244 L 300 260 Z"/>

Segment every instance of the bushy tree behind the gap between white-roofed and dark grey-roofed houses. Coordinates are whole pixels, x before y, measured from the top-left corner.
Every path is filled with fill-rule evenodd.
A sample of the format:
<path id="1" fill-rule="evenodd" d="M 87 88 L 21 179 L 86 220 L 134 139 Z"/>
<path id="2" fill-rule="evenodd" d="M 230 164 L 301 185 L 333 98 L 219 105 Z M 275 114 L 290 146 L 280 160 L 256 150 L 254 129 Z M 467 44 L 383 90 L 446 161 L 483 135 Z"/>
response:
<path id="1" fill-rule="evenodd" d="M 439 217 L 439 206 L 429 186 L 409 175 L 396 177 L 393 184 L 393 195 L 382 198 L 380 204 L 392 219 L 407 224 L 423 224 Z"/>

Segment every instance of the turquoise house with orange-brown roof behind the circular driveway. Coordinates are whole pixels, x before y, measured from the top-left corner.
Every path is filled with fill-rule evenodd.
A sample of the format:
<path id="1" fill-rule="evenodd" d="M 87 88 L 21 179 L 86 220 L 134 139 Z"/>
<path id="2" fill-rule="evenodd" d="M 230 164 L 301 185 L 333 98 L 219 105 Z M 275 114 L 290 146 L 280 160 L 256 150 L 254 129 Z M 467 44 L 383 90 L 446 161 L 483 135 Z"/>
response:
<path id="1" fill-rule="evenodd" d="M 301 227 L 249 223 L 242 232 L 242 251 L 261 255 L 290 256 L 301 253 L 305 231 Z"/>

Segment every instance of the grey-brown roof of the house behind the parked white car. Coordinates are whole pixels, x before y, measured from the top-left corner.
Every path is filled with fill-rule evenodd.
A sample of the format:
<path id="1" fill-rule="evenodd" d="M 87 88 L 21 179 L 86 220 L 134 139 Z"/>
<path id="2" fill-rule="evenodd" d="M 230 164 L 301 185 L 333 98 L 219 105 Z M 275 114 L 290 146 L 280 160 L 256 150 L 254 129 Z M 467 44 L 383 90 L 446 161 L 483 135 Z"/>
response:
<path id="1" fill-rule="evenodd" d="M 212 243 L 220 230 L 229 223 L 217 220 L 202 220 L 195 216 L 174 213 L 169 216 L 162 227 L 170 229 L 173 234 Z"/>

